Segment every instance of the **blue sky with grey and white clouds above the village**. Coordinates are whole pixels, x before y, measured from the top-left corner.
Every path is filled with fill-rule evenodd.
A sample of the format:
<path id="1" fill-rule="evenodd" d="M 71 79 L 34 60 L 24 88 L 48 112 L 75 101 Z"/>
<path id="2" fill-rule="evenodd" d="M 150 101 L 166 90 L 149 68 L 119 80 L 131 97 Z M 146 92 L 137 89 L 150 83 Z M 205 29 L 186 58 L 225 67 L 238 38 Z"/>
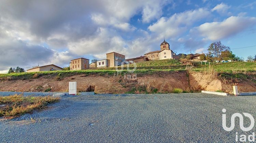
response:
<path id="1" fill-rule="evenodd" d="M 164 37 L 176 54 L 206 53 L 221 41 L 247 59 L 256 54 L 256 1 L 1 0 L 0 73 L 113 51 L 139 57 Z"/>

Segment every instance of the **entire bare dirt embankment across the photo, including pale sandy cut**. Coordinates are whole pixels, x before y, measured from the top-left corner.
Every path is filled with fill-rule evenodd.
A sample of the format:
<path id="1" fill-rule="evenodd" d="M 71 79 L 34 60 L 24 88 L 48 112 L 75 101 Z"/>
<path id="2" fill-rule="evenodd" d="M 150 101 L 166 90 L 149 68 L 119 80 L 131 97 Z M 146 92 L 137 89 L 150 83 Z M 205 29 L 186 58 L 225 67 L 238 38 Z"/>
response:
<path id="1" fill-rule="evenodd" d="M 134 77 L 133 77 L 134 78 Z M 19 92 L 68 92 L 69 81 L 77 82 L 77 91 L 86 91 L 90 86 L 96 93 L 171 93 L 174 88 L 183 91 L 217 91 L 232 93 L 232 85 L 240 92 L 256 91 L 256 83 L 250 80 L 225 80 L 199 72 L 155 72 L 137 74 L 136 79 L 117 75 L 73 75 L 69 77 L 42 76 L 23 80 L 2 80 L 0 91 Z"/>

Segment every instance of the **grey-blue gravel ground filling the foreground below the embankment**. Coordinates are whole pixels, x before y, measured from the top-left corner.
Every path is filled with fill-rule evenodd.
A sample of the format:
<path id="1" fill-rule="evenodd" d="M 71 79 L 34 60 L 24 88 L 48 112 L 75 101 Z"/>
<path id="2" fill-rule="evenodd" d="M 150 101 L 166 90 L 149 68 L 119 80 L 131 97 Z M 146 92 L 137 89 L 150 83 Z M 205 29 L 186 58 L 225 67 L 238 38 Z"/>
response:
<path id="1" fill-rule="evenodd" d="M 44 111 L 0 121 L 0 142 L 235 142 L 233 113 L 256 117 L 256 96 L 203 93 L 63 96 Z M 256 119 L 256 118 L 255 118 Z M 244 126 L 250 120 L 244 117 Z"/>

